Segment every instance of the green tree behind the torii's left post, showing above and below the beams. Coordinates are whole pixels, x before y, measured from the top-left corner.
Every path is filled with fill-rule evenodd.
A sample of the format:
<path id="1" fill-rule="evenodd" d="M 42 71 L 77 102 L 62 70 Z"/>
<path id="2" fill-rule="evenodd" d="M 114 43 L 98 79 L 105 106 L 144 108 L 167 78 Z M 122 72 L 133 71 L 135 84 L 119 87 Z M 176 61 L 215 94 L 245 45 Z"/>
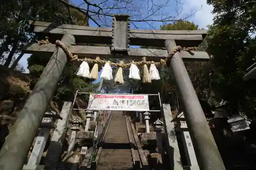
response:
<path id="1" fill-rule="evenodd" d="M 52 2 L 53 4 L 51 4 L 51 7 L 45 7 L 45 11 L 39 10 L 39 12 L 42 12 L 42 17 L 38 19 L 51 22 L 72 23 L 75 25 L 88 25 L 88 21 L 84 23 L 84 19 L 86 18 L 84 14 L 81 14 L 75 9 L 68 10 L 67 7 L 56 2 Z M 42 3 L 41 5 L 44 6 L 46 4 Z M 55 11 L 52 9 L 55 9 Z M 44 15 L 44 12 L 47 12 L 48 10 L 52 11 L 52 13 L 50 12 Z M 39 79 L 50 57 L 51 56 L 31 55 L 28 58 L 28 68 L 30 74 L 34 77 L 31 81 L 32 88 Z M 97 88 L 97 84 L 93 84 L 92 80 L 83 79 L 75 75 L 75 72 L 79 68 L 79 64 L 80 63 L 76 62 L 67 63 L 53 98 L 58 104 L 61 104 L 63 101 L 73 100 L 76 90 L 93 92 L 95 88 Z"/>

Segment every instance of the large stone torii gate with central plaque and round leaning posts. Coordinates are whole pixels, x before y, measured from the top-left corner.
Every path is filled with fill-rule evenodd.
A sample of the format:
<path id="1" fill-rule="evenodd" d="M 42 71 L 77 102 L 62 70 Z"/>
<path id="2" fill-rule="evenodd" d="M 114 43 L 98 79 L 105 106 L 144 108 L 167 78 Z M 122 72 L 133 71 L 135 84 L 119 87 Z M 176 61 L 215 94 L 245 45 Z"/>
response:
<path id="1" fill-rule="evenodd" d="M 207 31 L 165 31 L 165 30 L 130 30 L 129 15 L 115 15 L 113 28 L 95 28 L 74 25 L 56 25 L 48 22 L 30 22 L 37 37 L 49 36 L 51 40 L 61 39 L 61 42 L 73 54 L 79 57 L 92 56 L 109 58 L 142 58 L 159 61 L 166 59 L 173 48 L 198 46 Z M 111 48 L 102 46 L 75 45 L 76 43 L 111 44 Z M 130 48 L 129 45 L 165 46 L 166 50 Z M 18 114 L 13 130 L 6 138 L 0 152 L 1 170 L 20 170 L 31 146 L 31 142 L 44 116 L 47 105 L 62 74 L 68 59 L 63 48 L 54 44 L 39 45 L 34 43 L 25 53 L 53 53 L 50 61 L 42 72 L 23 110 Z M 198 164 L 201 170 L 224 170 L 220 153 L 207 124 L 203 110 L 197 98 L 195 89 L 189 79 L 184 60 L 208 60 L 206 52 L 180 51 L 168 58 L 169 67 L 175 78 L 180 101 L 191 139 L 195 146 Z M 15 163 L 11 163 L 15 161 Z M 175 170 L 175 169 L 174 169 Z"/>

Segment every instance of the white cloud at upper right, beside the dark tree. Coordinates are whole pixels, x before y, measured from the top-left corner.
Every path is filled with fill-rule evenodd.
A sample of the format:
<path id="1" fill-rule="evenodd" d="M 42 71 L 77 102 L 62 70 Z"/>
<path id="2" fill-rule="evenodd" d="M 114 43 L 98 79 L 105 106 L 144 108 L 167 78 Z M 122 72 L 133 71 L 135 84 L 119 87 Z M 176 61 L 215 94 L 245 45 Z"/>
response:
<path id="1" fill-rule="evenodd" d="M 214 15 L 211 14 L 213 7 L 206 4 L 206 0 L 182 0 L 183 12 L 182 15 L 197 11 L 194 15 L 190 16 L 188 20 L 195 22 L 199 28 L 206 29 L 207 25 L 212 24 Z"/>

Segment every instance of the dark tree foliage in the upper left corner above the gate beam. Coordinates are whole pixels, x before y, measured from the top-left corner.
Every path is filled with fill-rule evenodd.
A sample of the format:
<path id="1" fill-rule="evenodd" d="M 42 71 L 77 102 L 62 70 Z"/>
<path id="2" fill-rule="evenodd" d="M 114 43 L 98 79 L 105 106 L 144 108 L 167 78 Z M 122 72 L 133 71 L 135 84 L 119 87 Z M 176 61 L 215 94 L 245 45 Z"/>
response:
<path id="1" fill-rule="evenodd" d="M 33 39 L 28 25 L 30 19 L 78 23 L 79 25 L 82 25 L 86 20 L 86 25 L 88 25 L 88 20 L 85 19 L 84 14 L 76 9 L 69 9 L 58 1 L 3 0 L 0 9 L 0 38 L 2 39 L 0 57 L 3 57 L 4 53 L 8 53 L 4 64 L 7 67 L 10 65 L 14 54 L 20 53 L 24 45 Z"/>

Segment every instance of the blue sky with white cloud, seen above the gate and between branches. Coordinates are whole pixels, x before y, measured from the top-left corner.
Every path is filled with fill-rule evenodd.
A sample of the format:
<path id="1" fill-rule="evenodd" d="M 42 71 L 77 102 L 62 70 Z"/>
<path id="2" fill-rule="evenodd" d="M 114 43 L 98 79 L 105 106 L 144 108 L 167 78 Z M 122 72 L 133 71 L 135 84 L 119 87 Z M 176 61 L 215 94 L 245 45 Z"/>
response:
<path id="1" fill-rule="evenodd" d="M 105 6 L 103 7 L 108 7 L 110 5 L 113 5 L 114 2 L 117 2 L 118 0 L 115 1 L 108 1 L 108 4 L 105 4 Z M 132 3 L 128 4 L 128 6 L 130 7 L 129 9 L 133 9 L 134 11 L 132 11 L 130 14 L 132 15 L 131 18 L 132 19 L 141 19 L 144 18 L 146 16 L 148 16 L 149 14 L 152 14 L 152 12 L 148 12 L 148 9 L 151 9 L 152 4 L 148 5 L 148 2 L 154 2 L 154 9 L 158 8 L 159 6 L 161 6 L 162 4 L 165 4 L 164 7 L 161 8 L 161 10 L 154 10 L 154 16 L 152 15 L 151 17 L 149 17 L 148 19 L 161 19 L 161 17 L 167 17 L 167 16 L 175 16 L 177 15 L 177 11 L 179 13 L 178 16 L 176 16 L 174 19 L 181 19 L 184 18 L 186 16 L 189 16 L 191 13 L 194 13 L 195 11 L 197 11 L 194 15 L 189 16 L 188 18 L 186 18 L 186 20 L 189 21 L 193 21 L 195 22 L 197 25 L 199 25 L 199 28 L 205 28 L 207 25 L 210 25 L 212 23 L 212 14 L 211 14 L 211 10 L 213 9 L 212 6 L 208 6 L 206 4 L 206 0 L 178 0 L 179 3 L 177 3 L 176 0 L 127 0 L 127 1 L 131 1 Z M 82 4 L 83 0 L 72 0 L 72 2 L 81 7 L 84 8 L 85 6 Z M 92 3 L 99 3 L 99 2 L 103 2 L 103 0 L 94 0 L 94 1 L 89 1 Z M 122 5 L 120 5 L 122 6 Z M 127 11 L 125 11 L 124 9 L 121 10 L 115 10 L 112 11 L 113 13 L 126 13 Z M 136 15 L 136 16 L 135 16 Z M 160 16 L 161 15 L 161 16 Z M 104 18 L 103 18 L 104 19 Z M 107 18 L 107 22 L 111 23 L 111 18 L 108 17 Z M 168 22 L 167 22 L 168 23 Z M 89 21 L 90 26 L 92 27 L 97 27 L 97 25 L 90 20 Z M 131 28 L 132 29 L 136 29 L 136 27 L 138 27 L 139 29 L 148 29 L 148 30 L 152 30 L 152 29 L 159 29 L 160 25 L 163 25 L 163 22 L 157 22 L 157 21 L 151 21 L 151 22 L 134 22 L 133 24 L 131 24 Z M 26 72 L 28 72 L 27 69 L 27 59 L 30 55 L 29 54 L 25 54 L 24 57 L 19 61 L 19 64 L 22 65 L 25 69 Z M 99 81 L 99 80 L 98 80 Z"/>

